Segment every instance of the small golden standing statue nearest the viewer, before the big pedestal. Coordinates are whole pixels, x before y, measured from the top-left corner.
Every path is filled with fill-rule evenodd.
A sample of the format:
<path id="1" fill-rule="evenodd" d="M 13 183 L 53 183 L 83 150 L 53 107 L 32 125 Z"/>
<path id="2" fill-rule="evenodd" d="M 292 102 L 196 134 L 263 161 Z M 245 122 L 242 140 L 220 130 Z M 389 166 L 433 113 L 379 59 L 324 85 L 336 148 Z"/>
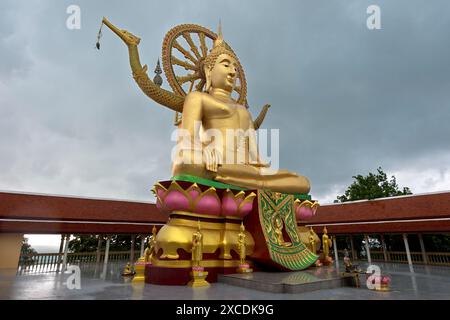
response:
<path id="1" fill-rule="evenodd" d="M 192 234 L 192 272 L 191 281 L 188 286 L 190 287 L 205 287 L 209 286 L 206 277 L 208 272 L 204 271 L 205 268 L 200 266 L 200 262 L 203 259 L 203 234 L 200 228 L 200 220 L 198 221 L 197 230 Z"/>

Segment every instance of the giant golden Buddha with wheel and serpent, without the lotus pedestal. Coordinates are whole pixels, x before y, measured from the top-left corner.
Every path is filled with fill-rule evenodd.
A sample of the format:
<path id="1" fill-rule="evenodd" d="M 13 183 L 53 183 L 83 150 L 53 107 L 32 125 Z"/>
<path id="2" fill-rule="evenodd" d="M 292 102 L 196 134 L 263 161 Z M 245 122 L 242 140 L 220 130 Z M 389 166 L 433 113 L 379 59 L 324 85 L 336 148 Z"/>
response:
<path id="1" fill-rule="evenodd" d="M 169 54 L 168 57 L 163 57 L 163 65 L 165 60 L 169 60 L 170 63 L 182 66 L 186 70 L 194 70 L 188 76 L 176 77 L 170 74 L 173 68 L 169 67 L 166 70 L 165 67 L 165 71 L 169 71 L 166 72 L 166 76 L 172 88 L 176 89 L 176 94 L 160 88 L 148 78 L 148 68 L 146 65 L 142 67 L 139 60 L 137 45 L 140 38 L 126 30 L 118 29 L 105 18 L 102 23 L 127 44 L 133 77 L 144 93 L 154 101 L 176 111 L 177 114 L 182 113 L 177 157 L 173 159 L 172 166 L 174 177 L 195 176 L 248 189 L 289 194 L 309 192 L 310 183 L 306 177 L 287 170 L 271 169 L 268 164 L 261 161 L 255 130 L 263 121 L 267 108 L 253 121 L 245 106 L 245 95 L 239 100 L 232 98 L 232 92 L 237 91 L 238 71 L 243 73 L 243 70 L 242 67 L 238 68 L 240 63 L 237 56 L 224 42 L 220 27 L 209 53 L 204 45 L 204 32 L 208 31 L 205 28 L 180 25 L 169 31 L 166 36 L 169 41 L 164 42 L 163 50 L 175 47 L 188 60 L 181 61 Z M 187 31 L 182 34 L 195 52 L 195 57 L 172 38 L 174 33 L 179 32 L 177 28 L 186 28 Z M 199 35 L 203 35 L 201 50 L 204 56 L 198 52 L 192 39 L 187 35 L 188 30 L 192 28 L 197 28 L 200 31 Z M 192 90 L 195 79 L 201 80 L 201 83 L 195 87 L 196 90 Z M 189 93 L 186 94 L 179 84 L 189 80 L 192 80 L 192 84 Z M 242 87 L 240 90 L 246 91 Z M 210 136 L 212 131 L 214 137 Z M 220 138 L 215 134 L 219 134 Z M 186 136 L 188 139 L 185 139 Z M 206 144 L 205 141 L 211 142 Z"/>

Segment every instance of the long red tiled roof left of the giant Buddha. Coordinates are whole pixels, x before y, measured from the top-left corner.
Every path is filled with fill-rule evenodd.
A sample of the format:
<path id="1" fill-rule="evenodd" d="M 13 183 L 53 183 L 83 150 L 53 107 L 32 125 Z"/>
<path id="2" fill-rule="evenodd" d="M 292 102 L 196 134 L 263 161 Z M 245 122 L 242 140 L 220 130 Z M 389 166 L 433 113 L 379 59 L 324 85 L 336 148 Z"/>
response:
<path id="1" fill-rule="evenodd" d="M 1 232 L 149 232 L 166 221 L 152 203 L 0 192 Z"/>

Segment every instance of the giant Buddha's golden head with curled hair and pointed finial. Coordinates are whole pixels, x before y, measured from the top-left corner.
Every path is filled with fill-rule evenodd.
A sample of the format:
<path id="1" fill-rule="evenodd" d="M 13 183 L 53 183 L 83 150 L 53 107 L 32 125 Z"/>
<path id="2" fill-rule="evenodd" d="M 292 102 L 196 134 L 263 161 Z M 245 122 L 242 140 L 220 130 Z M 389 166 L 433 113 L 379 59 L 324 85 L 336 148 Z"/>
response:
<path id="1" fill-rule="evenodd" d="M 223 41 L 222 32 L 214 41 L 214 47 L 203 62 L 206 78 L 206 92 L 211 88 L 232 92 L 237 79 L 238 59 L 234 52 Z"/>

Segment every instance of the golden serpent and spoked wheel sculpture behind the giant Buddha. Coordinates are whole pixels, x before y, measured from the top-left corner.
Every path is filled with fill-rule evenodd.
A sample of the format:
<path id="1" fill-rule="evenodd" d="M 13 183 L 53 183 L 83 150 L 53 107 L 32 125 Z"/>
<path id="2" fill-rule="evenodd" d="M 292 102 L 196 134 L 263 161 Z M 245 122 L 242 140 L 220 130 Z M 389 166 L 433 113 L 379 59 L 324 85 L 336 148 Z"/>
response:
<path id="1" fill-rule="evenodd" d="M 127 30 L 119 29 L 114 26 L 108 19 L 102 19 L 102 25 L 105 24 L 111 29 L 128 47 L 128 55 L 130 66 L 133 72 L 133 78 L 141 90 L 155 102 L 175 111 L 177 114 L 183 112 L 183 104 L 186 91 L 190 92 L 194 88 L 196 91 L 204 89 L 206 81 L 203 74 L 203 60 L 208 54 L 206 39 L 214 41 L 217 34 L 211 30 L 195 24 L 183 24 L 172 28 L 167 34 L 163 42 L 163 69 L 169 85 L 174 92 L 170 92 L 156 85 L 147 75 L 147 65 L 142 66 L 139 59 L 138 45 L 141 39 Z M 197 34 L 200 48 L 192 38 L 192 34 Z M 182 37 L 189 45 L 190 51 L 185 49 L 178 39 Z M 228 45 L 227 45 L 228 46 Z M 229 46 L 228 46 L 229 47 Z M 99 45 L 97 45 L 99 48 Z M 230 47 L 229 47 L 230 48 Z M 185 59 L 181 60 L 174 55 L 174 49 L 181 53 Z M 231 50 L 231 48 L 230 48 Z M 186 75 L 178 75 L 179 67 L 183 67 L 190 73 Z M 235 88 L 238 95 L 236 102 L 247 105 L 247 83 L 242 66 L 239 63 L 238 80 L 240 85 Z M 185 84 L 189 84 L 189 89 L 184 88 Z M 270 105 L 266 104 L 258 117 L 254 120 L 254 127 L 258 129 L 264 121 Z"/>

